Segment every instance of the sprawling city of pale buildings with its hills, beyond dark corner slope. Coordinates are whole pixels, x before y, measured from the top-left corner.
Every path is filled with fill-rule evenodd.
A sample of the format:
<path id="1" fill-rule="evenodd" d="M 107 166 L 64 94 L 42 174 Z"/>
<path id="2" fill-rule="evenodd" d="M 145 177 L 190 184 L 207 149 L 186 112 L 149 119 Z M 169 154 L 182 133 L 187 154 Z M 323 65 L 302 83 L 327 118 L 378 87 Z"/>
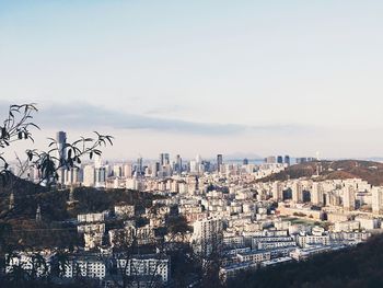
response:
<path id="1" fill-rule="evenodd" d="M 57 134 L 59 151 L 66 139 Z M 352 255 L 382 232 L 378 162 L 95 155 L 60 169 L 55 187 L 11 170 L 21 175 L 0 206 L 10 287 L 292 287 L 283 270 Z"/>

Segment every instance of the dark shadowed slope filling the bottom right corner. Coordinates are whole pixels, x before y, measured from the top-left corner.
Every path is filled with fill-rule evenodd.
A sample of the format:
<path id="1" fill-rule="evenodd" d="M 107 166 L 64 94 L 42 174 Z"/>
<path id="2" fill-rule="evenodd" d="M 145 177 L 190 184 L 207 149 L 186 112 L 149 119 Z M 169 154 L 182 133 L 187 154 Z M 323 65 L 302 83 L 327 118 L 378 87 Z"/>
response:
<path id="1" fill-rule="evenodd" d="M 383 235 L 356 247 L 316 255 L 307 261 L 241 274 L 230 288 L 383 287 Z"/>

